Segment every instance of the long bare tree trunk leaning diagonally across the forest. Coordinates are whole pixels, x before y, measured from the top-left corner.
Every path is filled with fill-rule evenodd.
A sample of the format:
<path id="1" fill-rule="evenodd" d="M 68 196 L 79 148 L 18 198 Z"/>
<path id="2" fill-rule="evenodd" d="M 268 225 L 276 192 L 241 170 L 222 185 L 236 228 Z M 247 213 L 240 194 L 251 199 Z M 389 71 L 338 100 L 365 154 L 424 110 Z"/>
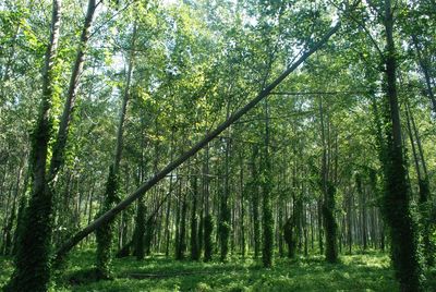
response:
<path id="1" fill-rule="evenodd" d="M 243 108 L 231 114 L 225 122 L 219 124 L 214 131 L 209 132 L 202 141 L 196 143 L 191 149 L 179 156 L 175 160 L 168 163 L 160 172 L 155 174 L 150 180 L 142 184 L 136 191 L 131 195 L 120 202 L 116 207 L 108 210 L 99 218 L 95 219 L 87 227 L 75 233 L 57 251 L 53 260 L 61 261 L 64 256 L 73 248 L 77 243 L 85 239 L 88 234 L 94 232 L 101 224 L 114 218 L 119 212 L 124 210 L 130 204 L 143 196 L 148 190 L 156 185 L 160 180 L 162 180 L 167 174 L 186 161 L 190 157 L 194 156 L 203 147 L 205 147 L 210 141 L 221 134 L 226 129 L 228 129 L 232 123 L 238 121 L 247 111 L 254 108 L 261 100 L 267 97 L 272 89 L 275 89 L 289 74 L 291 74 L 296 68 L 299 68 L 308 57 L 311 57 L 315 51 L 317 51 L 328 39 L 338 32 L 341 23 L 338 22 L 334 27 L 331 27 L 317 42 L 313 45 L 306 52 L 304 52 L 294 63 L 288 66 L 274 82 L 266 86 L 255 98 L 253 98 Z"/>

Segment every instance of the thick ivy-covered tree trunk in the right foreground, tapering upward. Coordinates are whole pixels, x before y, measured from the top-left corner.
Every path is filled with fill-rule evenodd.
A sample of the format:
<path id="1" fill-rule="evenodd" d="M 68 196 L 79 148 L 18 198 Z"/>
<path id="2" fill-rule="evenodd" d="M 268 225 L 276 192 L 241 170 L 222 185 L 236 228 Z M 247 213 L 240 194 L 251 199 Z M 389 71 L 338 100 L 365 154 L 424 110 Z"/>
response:
<path id="1" fill-rule="evenodd" d="M 397 97 L 397 60 L 393 42 L 393 15 L 390 0 L 385 0 L 386 86 L 390 109 L 388 157 L 385 161 L 386 193 L 384 208 L 390 227 L 392 261 L 402 291 L 421 289 L 417 236 L 410 212 L 409 185 L 403 159 L 401 123 Z"/>

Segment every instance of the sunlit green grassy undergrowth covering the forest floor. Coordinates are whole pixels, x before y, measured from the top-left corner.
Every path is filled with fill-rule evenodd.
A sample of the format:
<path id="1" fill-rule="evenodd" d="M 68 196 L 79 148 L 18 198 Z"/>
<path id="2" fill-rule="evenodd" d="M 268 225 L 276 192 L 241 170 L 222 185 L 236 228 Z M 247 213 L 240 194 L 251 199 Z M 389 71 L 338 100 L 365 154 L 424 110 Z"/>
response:
<path id="1" fill-rule="evenodd" d="M 272 269 L 252 259 L 227 264 L 177 261 L 153 256 L 113 260 L 113 280 L 89 277 L 95 254 L 75 252 L 55 291 L 398 291 L 389 256 L 370 252 L 343 255 L 337 265 L 320 256 L 276 258 Z M 10 258 L 0 257 L 0 285 L 12 272 Z M 436 270 L 427 275 L 427 291 L 436 291 Z"/>

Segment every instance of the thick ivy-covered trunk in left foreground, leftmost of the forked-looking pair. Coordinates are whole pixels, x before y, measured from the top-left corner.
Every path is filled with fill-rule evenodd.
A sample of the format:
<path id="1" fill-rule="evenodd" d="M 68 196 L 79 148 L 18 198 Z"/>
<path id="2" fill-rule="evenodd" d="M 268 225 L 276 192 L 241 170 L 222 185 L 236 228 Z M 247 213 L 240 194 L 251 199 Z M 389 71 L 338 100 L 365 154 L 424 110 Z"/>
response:
<path id="1" fill-rule="evenodd" d="M 31 171 L 32 196 L 20 227 L 15 270 L 5 291 L 47 291 L 50 280 L 50 238 L 52 196 L 47 184 L 46 167 L 52 122 L 50 119 L 55 86 L 55 59 L 58 50 L 61 0 L 53 0 L 50 41 L 43 72 L 43 96 L 33 133 Z"/>

